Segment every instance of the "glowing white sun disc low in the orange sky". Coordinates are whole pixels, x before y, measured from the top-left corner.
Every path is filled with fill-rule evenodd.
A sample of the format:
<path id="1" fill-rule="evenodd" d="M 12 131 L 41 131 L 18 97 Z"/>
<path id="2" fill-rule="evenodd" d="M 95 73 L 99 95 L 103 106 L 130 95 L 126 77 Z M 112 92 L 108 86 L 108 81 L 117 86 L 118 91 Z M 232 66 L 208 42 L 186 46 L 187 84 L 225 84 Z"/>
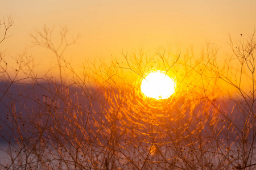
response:
<path id="1" fill-rule="evenodd" d="M 175 92 L 175 82 L 164 71 L 149 73 L 141 82 L 141 92 L 154 99 L 167 99 Z"/>

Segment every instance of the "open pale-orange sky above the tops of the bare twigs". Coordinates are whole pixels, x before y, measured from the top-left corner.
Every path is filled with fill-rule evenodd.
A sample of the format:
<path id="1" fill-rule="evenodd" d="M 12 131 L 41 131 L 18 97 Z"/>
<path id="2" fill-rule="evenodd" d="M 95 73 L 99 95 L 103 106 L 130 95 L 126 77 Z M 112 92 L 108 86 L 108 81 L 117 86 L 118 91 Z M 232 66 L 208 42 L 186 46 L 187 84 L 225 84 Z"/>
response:
<path id="1" fill-rule="evenodd" d="M 9 0 L 0 2 L 0 16 L 11 15 L 13 36 L 0 50 L 6 57 L 27 52 L 46 67 L 53 58 L 46 49 L 32 46 L 31 33 L 43 25 L 56 30 L 59 25 L 80 38 L 65 55 L 79 65 L 84 59 L 112 56 L 121 58 L 122 50 L 133 53 L 143 49 L 154 54 L 165 48 L 171 54 L 200 56 L 205 42 L 213 42 L 222 52 L 228 48 L 228 33 L 237 39 L 250 36 L 256 25 L 254 0 Z M 2 36 L 2 34 L 1 34 Z"/>

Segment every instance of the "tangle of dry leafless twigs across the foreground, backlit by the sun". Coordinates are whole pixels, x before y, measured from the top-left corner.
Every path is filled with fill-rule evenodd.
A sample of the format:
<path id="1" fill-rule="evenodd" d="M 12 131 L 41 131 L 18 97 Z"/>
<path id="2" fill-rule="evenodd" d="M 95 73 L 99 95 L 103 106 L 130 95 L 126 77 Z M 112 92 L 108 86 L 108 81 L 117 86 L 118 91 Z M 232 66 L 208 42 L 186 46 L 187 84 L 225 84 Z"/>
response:
<path id="1" fill-rule="evenodd" d="M 12 23 L 2 22 L 3 40 Z M 76 39 L 61 29 L 54 44 L 53 31 L 32 39 L 55 55 L 57 79 L 37 77 L 26 53 L 15 67 L 0 53 L 0 169 L 256 169 L 254 36 L 230 38 L 221 64 L 207 44 L 196 59 L 124 53 L 76 73 L 64 57 Z M 152 69 L 174 76 L 170 99 L 139 92 Z"/>

